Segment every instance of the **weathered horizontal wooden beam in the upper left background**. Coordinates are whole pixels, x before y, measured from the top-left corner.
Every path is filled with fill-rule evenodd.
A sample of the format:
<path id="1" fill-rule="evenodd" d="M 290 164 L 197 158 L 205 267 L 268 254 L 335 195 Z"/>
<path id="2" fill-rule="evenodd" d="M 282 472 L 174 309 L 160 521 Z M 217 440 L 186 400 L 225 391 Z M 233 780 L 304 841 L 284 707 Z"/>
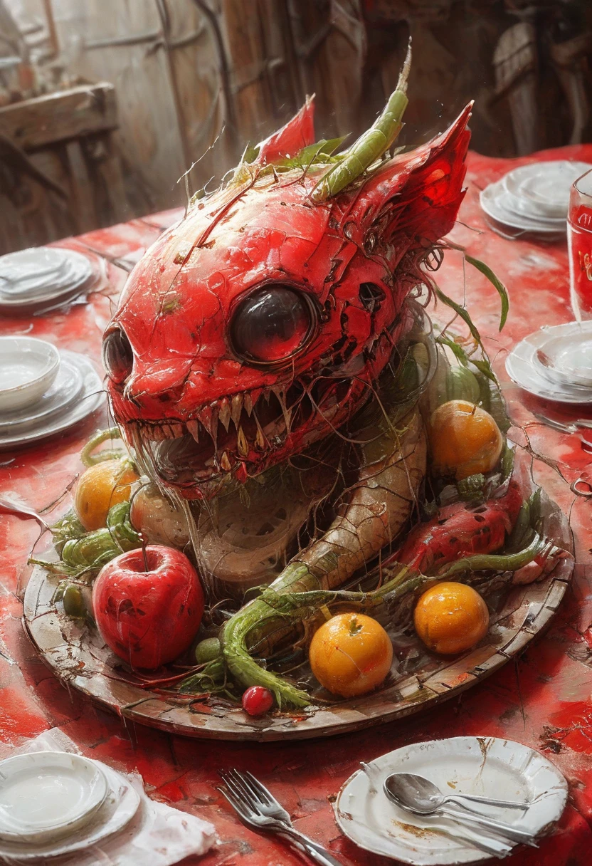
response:
<path id="1" fill-rule="evenodd" d="M 0 132 L 25 151 L 117 126 L 115 88 L 106 81 L 0 108 Z"/>

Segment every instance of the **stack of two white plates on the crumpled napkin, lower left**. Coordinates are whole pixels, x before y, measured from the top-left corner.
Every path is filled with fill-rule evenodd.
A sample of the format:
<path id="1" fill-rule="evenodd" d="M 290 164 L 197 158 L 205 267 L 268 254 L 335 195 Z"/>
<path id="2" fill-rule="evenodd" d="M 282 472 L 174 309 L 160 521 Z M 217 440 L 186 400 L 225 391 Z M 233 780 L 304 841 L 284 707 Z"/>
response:
<path id="1" fill-rule="evenodd" d="M 67 752 L 3 760 L 0 859 L 45 863 L 86 849 L 125 827 L 139 802 L 128 780 L 100 761 Z"/>

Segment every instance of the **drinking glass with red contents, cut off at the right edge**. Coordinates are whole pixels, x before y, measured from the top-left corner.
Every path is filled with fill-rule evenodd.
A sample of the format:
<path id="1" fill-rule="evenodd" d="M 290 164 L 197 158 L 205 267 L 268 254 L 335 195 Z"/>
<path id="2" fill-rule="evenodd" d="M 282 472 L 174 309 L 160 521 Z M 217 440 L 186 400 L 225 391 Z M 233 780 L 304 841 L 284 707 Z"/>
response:
<path id="1" fill-rule="evenodd" d="M 567 224 L 571 306 L 576 320 L 592 319 L 592 169 L 571 185 Z"/>

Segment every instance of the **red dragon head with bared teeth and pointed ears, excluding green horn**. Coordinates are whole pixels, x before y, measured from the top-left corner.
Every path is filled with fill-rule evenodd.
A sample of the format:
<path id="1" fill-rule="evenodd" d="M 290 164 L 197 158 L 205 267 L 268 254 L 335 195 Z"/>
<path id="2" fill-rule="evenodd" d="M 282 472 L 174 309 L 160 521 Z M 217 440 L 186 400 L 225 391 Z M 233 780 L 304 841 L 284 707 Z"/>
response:
<path id="1" fill-rule="evenodd" d="M 161 482 L 209 498 L 364 404 L 409 327 L 421 262 L 453 226 L 469 116 L 319 197 L 344 158 L 312 145 L 307 101 L 147 250 L 103 358 L 113 415 Z"/>

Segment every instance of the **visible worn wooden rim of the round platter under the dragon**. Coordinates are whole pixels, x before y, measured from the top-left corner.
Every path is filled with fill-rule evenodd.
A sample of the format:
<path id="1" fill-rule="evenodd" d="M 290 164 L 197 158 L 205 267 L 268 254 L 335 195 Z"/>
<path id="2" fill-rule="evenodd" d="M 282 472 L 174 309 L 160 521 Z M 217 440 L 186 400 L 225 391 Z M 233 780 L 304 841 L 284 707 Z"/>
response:
<path id="1" fill-rule="evenodd" d="M 545 534 L 572 551 L 569 523 L 543 495 Z M 253 719 L 241 708 L 190 702 L 187 696 L 156 695 L 141 688 L 96 630 L 80 625 L 52 602 L 59 578 L 35 566 L 25 592 L 23 624 L 42 660 L 67 687 L 112 709 L 124 720 L 158 727 L 172 734 L 210 740 L 307 740 L 345 734 L 401 719 L 485 679 L 516 656 L 550 623 L 567 589 L 573 559 L 560 559 L 537 583 L 517 586 L 492 615 L 486 638 L 454 659 L 423 656 L 412 674 L 389 680 L 370 695 L 311 707 L 299 714 L 276 713 Z"/>

